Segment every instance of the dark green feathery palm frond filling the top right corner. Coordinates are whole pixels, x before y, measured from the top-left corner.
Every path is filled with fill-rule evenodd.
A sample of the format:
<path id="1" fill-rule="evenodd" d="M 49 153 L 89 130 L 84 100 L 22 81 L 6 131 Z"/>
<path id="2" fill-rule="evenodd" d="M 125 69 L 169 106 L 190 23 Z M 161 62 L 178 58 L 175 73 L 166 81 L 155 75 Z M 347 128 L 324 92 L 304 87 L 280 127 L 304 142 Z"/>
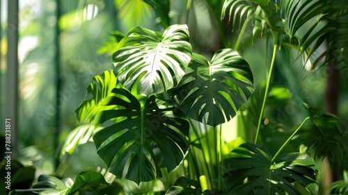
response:
<path id="1" fill-rule="evenodd" d="M 326 65 L 334 63 L 337 68 L 348 67 L 348 3 L 338 1 L 287 1 L 285 6 L 285 32 L 292 39 L 298 40 L 295 47 L 299 56 L 305 54 L 306 62 L 316 55 L 311 69 L 319 63 Z M 315 21 L 315 22 L 313 22 Z M 308 27 L 309 26 L 309 27 Z M 300 31 L 304 31 L 300 35 Z M 326 45 L 326 51 L 320 51 L 320 46 Z"/>

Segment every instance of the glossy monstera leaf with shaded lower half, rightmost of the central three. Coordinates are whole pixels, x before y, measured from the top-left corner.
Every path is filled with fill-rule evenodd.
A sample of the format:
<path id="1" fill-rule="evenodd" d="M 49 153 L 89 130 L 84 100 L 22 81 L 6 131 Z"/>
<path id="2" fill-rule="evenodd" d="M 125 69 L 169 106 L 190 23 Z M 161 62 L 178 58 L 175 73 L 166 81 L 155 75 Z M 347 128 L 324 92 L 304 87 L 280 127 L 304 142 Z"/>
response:
<path id="1" fill-rule="evenodd" d="M 253 90 L 248 63 L 232 49 L 216 51 L 212 62 L 194 54 L 189 68 L 171 96 L 196 121 L 211 126 L 229 121 Z"/>

